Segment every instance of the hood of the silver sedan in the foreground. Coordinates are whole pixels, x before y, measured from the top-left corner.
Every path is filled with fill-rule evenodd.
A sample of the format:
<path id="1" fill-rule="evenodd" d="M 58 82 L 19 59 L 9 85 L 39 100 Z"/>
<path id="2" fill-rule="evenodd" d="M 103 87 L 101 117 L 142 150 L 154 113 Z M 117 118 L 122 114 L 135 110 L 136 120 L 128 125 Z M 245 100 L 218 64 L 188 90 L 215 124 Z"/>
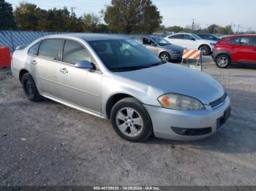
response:
<path id="1" fill-rule="evenodd" d="M 117 80 L 135 85 L 136 88 L 150 88 L 151 93 L 156 94 L 157 97 L 164 93 L 178 93 L 197 98 L 203 104 L 209 104 L 225 93 L 224 87 L 210 75 L 173 63 L 135 71 L 116 72 L 116 75 L 128 79 Z"/>

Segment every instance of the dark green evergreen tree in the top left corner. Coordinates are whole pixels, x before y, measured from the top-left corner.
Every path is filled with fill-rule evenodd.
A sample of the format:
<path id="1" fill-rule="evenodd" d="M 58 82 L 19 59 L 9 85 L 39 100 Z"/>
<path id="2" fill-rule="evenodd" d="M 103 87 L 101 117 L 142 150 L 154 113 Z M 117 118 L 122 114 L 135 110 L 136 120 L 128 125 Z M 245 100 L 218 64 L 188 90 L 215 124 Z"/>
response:
<path id="1" fill-rule="evenodd" d="M 10 30 L 11 28 L 15 28 L 12 4 L 0 0 L 0 30 Z"/>

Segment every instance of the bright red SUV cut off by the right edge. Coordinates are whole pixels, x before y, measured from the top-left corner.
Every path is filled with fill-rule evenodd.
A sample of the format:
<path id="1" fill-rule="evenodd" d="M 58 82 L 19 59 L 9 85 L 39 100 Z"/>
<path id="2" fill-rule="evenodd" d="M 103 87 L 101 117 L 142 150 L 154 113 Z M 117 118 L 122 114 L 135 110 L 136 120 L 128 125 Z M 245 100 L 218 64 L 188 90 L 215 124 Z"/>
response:
<path id="1" fill-rule="evenodd" d="M 256 63 L 256 35 L 223 37 L 215 44 L 211 57 L 222 69 L 230 63 Z"/>

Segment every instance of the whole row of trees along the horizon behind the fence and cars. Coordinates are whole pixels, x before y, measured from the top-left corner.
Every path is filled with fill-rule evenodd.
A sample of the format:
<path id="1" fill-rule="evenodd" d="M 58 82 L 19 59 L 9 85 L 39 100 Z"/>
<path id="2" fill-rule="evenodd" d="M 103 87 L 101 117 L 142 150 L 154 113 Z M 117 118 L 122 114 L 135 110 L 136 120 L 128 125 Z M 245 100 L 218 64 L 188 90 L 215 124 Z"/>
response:
<path id="1" fill-rule="evenodd" d="M 12 4 L 0 0 L 0 30 L 68 31 L 119 34 L 152 34 L 153 32 L 179 32 L 211 34 L 236 34 L 232 26 L 213 24 L 200 28 L 191 26 L 161 25 L 162 16 L 151 0 L 112 0 L 99 14 L 84 13 L 82 16 L 69 12 L 67 7 L 41 9 L 36 4 L 21 2 L 15 10 Z M 255 34 L 255 31 L 249 31 Z"/>

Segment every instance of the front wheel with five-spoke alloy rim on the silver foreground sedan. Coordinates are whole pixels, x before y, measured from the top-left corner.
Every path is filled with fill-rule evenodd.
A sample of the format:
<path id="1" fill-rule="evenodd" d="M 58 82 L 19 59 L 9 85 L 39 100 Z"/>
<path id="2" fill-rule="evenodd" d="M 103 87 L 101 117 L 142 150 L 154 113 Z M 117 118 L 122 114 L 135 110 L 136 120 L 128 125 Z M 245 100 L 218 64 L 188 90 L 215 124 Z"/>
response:
<path id="1" fill-rule="evenodd" d="M 135 98 L 118 101 L 110 113 L 114 130 L 127 141 L 145 141 L 153 132 L 151 117 Z"/>

